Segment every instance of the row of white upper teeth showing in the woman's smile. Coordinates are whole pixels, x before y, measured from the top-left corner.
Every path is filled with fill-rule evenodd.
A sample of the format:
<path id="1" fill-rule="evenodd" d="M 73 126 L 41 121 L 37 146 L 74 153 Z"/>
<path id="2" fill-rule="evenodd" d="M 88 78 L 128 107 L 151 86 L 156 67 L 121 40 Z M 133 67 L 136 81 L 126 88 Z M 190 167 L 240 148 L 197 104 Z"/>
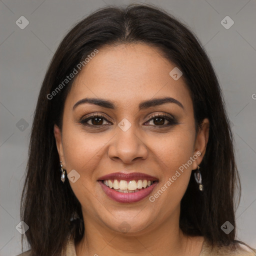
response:
<path id="1" fill-rule="evenodd" d="M 122 189 L 122 190 L 136 190 L 136 189 L 140 189 L 142 187 L 147 187 L 147 186 L 150 186 L 153 181 L 152 180 L 129 180 L 129 181 L 126 181 L 126 180 L 117 180 L 117 179 L 114 179 L 114 180 L 111 180 L 111 179 L 108 179 L 108 180 L 103 180 L 103 183 L 110 187 L 110 188 L 114 188 L 114 189 Z"/>

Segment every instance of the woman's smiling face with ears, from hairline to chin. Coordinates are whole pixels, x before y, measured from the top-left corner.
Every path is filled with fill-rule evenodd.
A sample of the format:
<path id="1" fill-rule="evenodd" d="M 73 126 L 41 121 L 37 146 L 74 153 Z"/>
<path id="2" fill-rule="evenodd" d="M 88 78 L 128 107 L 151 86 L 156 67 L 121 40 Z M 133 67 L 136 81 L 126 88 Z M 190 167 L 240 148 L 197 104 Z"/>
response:
<path id="1" fill-rule="evenodd" d="M 178 220 L 191 170 L 205 152 L 208 120 L 196 135 L 189 91 L 182 76 L 169 75 L 174 67 L 157 48 L 121 44 L 100 48 L 77 75 L 65 100 L 62 130 L 55 125 L 54 135 L 63 168 L 74 176 L 75 182 L 65 182 L 81 203 L 84 221 L 116 231 L 126 221 L 129 232 L 143 233 Z M 141 104 L 167 97 L 172 99 Z M 84 98 L 111 104 L 80 101 Z M 117 179 L 116 187 L 137 191 L 106 187 L 101 177 L 110 173 L 115 174 L 108 186 Z M 152 188 L 140 189 L 140 179 L 154 181 Z"/>

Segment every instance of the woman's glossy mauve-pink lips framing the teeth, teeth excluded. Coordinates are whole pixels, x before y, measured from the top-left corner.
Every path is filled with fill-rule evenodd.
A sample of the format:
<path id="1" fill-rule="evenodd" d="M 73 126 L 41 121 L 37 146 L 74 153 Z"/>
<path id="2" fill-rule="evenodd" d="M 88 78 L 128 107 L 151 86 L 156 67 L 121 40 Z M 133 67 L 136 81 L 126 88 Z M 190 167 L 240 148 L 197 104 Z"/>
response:
<path id="1" fill-rule="evenodd" d="M 126 180 L 128 182 L 134 182 L 134 180 L 148 180 L 152 182 L 151 185 L 147 186 L 146 188 L 142 187 L 141 189 L 136 189 L 135 191 L 124 193 L 120 192 L 120 189 L 120 191 L 116 191 L 116 189 L 108 187 L 105 184 L 106 180 Z M 124 203 L 137 202 L 144 199 L 152 192 L 152 190 L 158 183 L 158 179 L 156 177 L 141 172 L 114 172 L 101 176 L 97 181 L 99 182 L 102 190 L 108 197 L 117 202 Z"/>

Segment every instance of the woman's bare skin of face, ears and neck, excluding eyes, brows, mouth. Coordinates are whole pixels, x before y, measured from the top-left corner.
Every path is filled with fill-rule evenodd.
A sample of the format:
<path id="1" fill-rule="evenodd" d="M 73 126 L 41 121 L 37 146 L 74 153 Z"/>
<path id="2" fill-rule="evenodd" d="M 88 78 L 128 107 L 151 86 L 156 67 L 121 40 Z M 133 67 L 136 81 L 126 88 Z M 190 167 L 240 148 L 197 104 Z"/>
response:
<path id="1" fill-rule="evenodd" d="M 188 237 L 179 229 L 180 201 L 188 185 L 191 170 L 196 169 L 205 153 L 209 121 L 195 134 L 192 99 L 182 76 L 172 79 L 175 65 L 157 48 L 143 43 L 104 46 L 77 75 L 64 104 L 62 131 L 54 125 L 59 158 L 69 173 L 75 169 L 80 177 L 72 183 L 81 203 L 85 232 L 75 245 L 76 255 L 199 255 L 203 237 Z M 175 103 L 138 110 L 147 99 L 173 97 Z M 115 109 L 83 103 L 85 97 L 111 100 Z M 81 117 L 101 113 L 107 119 L 99 127 L 84 126 Z M 178 124 L 157 129 L 150 114 L 173 115 Z M 127 131 L 118 123 L 126 118 Z M 95 124 L 95 119 L 87 121 Z M 110 124 L 110 125 L 107 125 Z M 110 199 L 97 179 L 105 174 L 126 171 L 156 176 L 155 193 L 175 171 L 196 154 L 189 165 L 154 202 L 148 197 L 135 203 Z M 202 170 L 203 171 L 203 170 Z M 203 181 L 202 181 L 203 183 Z M 119 225 L 126 221 L 129 230 Z"/>

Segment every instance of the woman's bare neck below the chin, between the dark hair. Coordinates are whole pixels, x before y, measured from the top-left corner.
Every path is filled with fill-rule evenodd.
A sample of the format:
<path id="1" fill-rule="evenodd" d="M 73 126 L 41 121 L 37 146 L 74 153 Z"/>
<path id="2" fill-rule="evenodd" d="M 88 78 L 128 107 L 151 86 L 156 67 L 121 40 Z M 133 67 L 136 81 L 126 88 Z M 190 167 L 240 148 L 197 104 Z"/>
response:
<path id="1" fill-rule="evenodd" d="M 190 237 L 184 235 L 179 228 L 178 217 L 179 214 L 176 214 L 160 225 L 152 224 L 143 231 L 122 233 L 86 215 L 83 217 L 86 227 L 84 235 L 75 245 L 76 256 L 199 255 L 202 239 L 197 237 L 192 242 Z"/>

